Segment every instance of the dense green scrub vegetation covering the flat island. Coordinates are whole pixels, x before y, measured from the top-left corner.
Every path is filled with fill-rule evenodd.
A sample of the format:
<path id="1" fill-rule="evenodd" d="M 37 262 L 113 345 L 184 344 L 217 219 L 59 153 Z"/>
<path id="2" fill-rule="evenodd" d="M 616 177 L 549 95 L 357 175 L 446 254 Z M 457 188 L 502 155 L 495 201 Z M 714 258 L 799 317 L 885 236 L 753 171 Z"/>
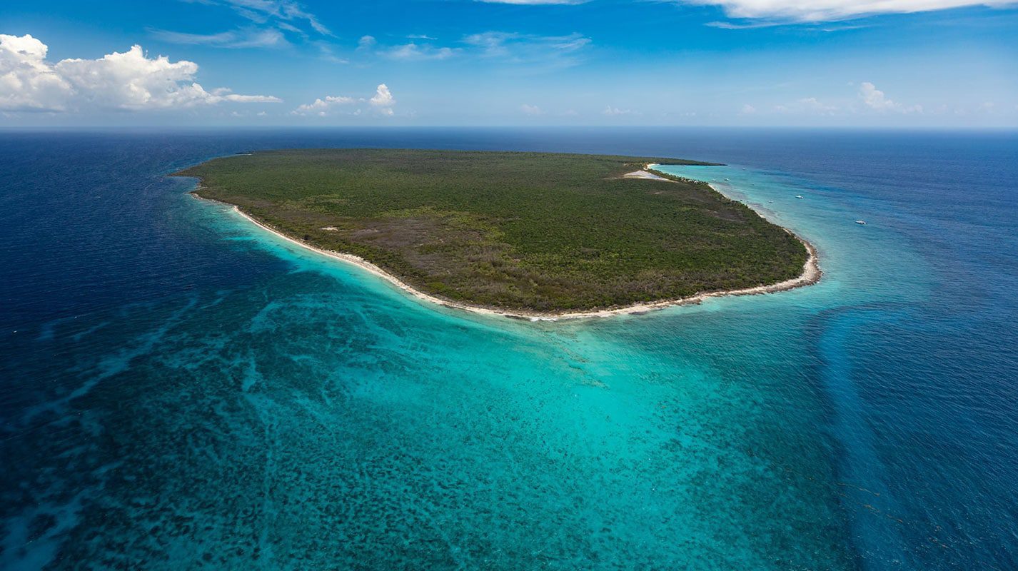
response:
<path id="1" fill-rule="evenodd" d="M 301 150 L 176 173 L 317 247 L 504 309 L 593 309 L 798 276 L 805 247 L 708 184 L 620 178 L 649 157 Z"/>

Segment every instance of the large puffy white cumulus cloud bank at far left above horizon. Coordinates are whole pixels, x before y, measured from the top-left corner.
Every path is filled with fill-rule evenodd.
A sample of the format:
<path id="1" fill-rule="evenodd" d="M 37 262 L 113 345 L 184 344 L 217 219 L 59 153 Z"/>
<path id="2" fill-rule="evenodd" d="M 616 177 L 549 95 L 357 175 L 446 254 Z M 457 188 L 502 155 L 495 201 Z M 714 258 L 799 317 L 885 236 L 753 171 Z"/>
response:
<path id="1" fill-rule="evenodd" d="M 222 102 L 278 103 L 227 89 L 207 92 L 194 81 L 197 64 L 149 58 L 140 46 L 99 59 L 46 60 L 48 46 L 30 35 L 0 34 L 0 111 L 73 112 L 97 109 L 173 109 Z"/>

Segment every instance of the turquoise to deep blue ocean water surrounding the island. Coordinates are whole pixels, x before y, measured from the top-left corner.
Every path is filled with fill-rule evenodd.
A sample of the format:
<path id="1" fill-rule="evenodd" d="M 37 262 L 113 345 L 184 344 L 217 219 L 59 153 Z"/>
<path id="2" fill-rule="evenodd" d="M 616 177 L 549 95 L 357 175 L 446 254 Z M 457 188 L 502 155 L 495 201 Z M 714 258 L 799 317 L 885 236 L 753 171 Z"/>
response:
<path id="1" fill-rule="evenodd" d="M 164 176 L 302 147 L 723 162 L 825 277 L 467 315 Z M 1018 568 L 1018 133 L 0 131 L 0 569 Z"/>

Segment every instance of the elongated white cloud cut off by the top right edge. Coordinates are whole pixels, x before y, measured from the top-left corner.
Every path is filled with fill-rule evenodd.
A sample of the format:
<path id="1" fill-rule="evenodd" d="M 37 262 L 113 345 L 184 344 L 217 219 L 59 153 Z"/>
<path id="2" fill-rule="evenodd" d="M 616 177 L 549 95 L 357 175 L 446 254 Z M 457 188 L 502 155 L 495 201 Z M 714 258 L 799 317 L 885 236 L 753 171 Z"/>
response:
<path id="1" fill-rule="evenodd" d="M 831 21 L 853 17 L 925 12 L 965 6 L 1004 6 L 1014 0 L 679 0 L 721 6 L 733 18 Z"/>

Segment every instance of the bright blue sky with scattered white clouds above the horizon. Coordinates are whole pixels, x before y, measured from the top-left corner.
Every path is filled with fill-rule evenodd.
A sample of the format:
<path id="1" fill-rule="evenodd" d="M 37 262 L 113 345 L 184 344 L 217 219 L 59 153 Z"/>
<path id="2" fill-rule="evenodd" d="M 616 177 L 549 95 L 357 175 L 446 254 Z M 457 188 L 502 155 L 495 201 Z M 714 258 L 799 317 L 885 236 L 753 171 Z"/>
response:
<path id="1" fill-rule="evenodd" d="M 0 6 L 0 126 L 375 124 L 1014 127 L 1018 5 Z"/>

